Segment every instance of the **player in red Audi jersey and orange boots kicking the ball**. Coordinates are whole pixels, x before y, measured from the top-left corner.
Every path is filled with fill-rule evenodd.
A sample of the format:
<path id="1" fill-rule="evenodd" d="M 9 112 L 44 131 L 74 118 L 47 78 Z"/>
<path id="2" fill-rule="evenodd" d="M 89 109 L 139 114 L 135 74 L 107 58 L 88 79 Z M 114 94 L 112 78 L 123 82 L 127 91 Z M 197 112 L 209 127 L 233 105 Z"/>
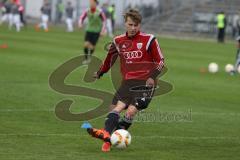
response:
<path id="1" fill-rule="evenodd" d="M 99 79 L 108 72 L 117 57 L 120 58 L 122 83 L 112 101 L 104 129 L 88 128 L 93 137 L 104 141 L 102 151 L 110 151 L 110 135 L 116 129 L 128 129 L 138 111 L 148 107 L 155 87 L 156 77 L 164 67 L 157 39 L 140 31 L 141 14 L 130 9 L 124 15 L 126 33 L 116 36 L 107 57 L 94 77 Z M 126 110 L 120 119 L 120 113 Z"/>

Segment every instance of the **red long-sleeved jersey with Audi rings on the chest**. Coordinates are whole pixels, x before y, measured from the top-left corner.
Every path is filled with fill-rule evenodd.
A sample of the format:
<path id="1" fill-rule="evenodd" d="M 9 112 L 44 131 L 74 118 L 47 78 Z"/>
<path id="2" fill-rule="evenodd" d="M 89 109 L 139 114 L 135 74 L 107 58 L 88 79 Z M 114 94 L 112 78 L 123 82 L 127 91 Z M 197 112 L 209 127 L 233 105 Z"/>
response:
<path id="1" fill-rule="evenodd" d="M 127 33 L 114 38 L 99 73 L 106 73 L 120 58 L 124 80 L 155 79 L 164 66 L 164 58 L 157 39 L 152 34 L 138 32 L 134 37 Z"/>

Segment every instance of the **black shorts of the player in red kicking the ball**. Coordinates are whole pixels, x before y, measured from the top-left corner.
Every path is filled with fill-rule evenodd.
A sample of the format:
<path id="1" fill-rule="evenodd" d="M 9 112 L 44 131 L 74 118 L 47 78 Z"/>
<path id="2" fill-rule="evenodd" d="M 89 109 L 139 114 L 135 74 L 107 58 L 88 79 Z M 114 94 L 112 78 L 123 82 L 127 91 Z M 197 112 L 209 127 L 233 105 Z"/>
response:
<path id="1" fill-rule="evenodd" d="M 154 91 L 154 87 L 146 87 L 144 80 L 123 81 L 113 97 L 112 104 L 116 105 L 121 101 L 126 104 L 126 107 L 134 105 L 138 110 L 142 110 L 148 107 Z"/>

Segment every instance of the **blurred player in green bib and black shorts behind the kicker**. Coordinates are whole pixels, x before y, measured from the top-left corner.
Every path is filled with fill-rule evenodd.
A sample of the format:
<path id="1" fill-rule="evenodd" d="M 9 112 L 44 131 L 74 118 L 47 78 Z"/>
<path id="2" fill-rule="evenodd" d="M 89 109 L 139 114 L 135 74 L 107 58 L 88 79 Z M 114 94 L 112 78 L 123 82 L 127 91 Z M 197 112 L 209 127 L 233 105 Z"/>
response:
<path id="1" fill-rule="evenodd" d="M 91 55 L 94 52 L 99 36 L 105 34 L 106 17 L 97 5 L 97 0 L 90 0 L 90 8 L 85 10 L 79 19 L 79 27 L 82 28 L 83 21 L 88 18 L 84 42 L 85 61 L 83 61 L 83 64 L 91 62 Z"/>

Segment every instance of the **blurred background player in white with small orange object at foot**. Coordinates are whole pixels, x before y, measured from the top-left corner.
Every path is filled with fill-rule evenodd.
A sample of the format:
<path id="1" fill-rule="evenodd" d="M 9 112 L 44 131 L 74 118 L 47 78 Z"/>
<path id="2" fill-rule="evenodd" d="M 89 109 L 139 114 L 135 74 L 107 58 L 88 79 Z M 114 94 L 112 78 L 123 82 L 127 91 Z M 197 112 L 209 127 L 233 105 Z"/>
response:
<path id="1" fill-rule="evenodd" d="M 51 16 L 51 5 L 48 0 L 44 0 L 44 4 L 41 7 L 41 23 L 36 26 L 36 30 L 39 31 L 40 28 L 43 28 L 45 32 L 48 32 L 48 21 Z"/>

